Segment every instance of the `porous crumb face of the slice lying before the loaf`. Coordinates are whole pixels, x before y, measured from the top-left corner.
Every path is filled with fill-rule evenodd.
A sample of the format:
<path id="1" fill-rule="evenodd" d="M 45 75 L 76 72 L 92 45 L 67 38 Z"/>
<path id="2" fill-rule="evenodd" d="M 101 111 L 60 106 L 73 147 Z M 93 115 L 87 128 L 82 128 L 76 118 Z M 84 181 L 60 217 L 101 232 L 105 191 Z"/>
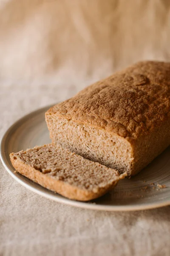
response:
<path id="1" fill-rule="evenodd" d="M 11 153 L 10 157 L 54 179 L 93 192 L 126 176 L 53 144 Z"/>

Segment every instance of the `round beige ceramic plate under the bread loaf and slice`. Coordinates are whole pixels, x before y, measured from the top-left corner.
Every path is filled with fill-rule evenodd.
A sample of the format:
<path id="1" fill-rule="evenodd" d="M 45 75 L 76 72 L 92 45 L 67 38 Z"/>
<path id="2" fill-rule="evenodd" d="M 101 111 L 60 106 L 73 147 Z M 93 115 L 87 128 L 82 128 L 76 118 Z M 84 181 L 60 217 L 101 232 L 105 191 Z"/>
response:
<path id="1" fill-rule="evenodd" d="M 121 180 L 108 194 L 90 202 L 79 202 L 64 198 L 14 173 L 9 154 L 50 143 L 45 123 L 45 111 L 50 106 L 34 111 L 15 122 L 1 141 L 1 160 L 7 172 L 31 191 L 51 200 L 86 209 L 107 211 L 130 211 L 150 209 L 170 204 L 170 147 L 157 157 L 139 175 L 130 180 Z M 163 185 L 166 188 L 161 188 Z"/>

